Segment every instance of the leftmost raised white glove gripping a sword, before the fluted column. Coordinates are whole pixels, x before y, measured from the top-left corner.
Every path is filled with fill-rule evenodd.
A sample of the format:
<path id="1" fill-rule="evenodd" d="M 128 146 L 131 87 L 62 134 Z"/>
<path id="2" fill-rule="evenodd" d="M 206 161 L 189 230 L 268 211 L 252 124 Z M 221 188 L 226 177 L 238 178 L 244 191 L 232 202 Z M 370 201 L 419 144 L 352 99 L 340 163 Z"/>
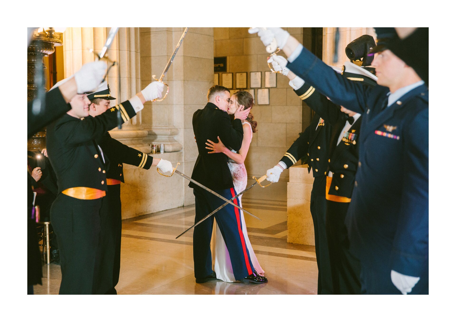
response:
<path id="1" fill-rule="evenodd" d="M 78 93 L 82 94 L 95 91 L 104 78 L 106 68 L 108 68 L 106 62 L 99 60 L 84 64 L 81 69 L 74 73 Z"/>

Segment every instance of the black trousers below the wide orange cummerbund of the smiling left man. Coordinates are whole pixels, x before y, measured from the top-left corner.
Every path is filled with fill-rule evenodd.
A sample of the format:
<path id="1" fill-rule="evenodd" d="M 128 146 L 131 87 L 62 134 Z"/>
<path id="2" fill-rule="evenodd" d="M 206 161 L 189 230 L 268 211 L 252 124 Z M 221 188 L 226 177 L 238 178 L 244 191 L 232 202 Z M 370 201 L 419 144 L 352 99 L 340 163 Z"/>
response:
<path id="1" fill-rule="evenodd" d="M 51 208 L 57 234 L 62 282 L 59 294 L 93 294 L 98 244 L 106 197 L 81 200 L 59 193 Z"/>

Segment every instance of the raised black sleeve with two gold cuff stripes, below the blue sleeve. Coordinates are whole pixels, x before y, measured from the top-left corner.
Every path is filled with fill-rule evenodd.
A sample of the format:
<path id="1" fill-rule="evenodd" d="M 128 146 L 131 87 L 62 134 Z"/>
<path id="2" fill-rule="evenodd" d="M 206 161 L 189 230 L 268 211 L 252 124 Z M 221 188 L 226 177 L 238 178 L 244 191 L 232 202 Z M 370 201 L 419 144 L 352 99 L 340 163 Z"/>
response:
<path id="1" fill-rule="evenodd" d="M 335 125 L 339 118 L 342 117 L 342 114 L 345 114 L 341 112 L 340 105 L 332 103 L 331 100 L 327 99 L 325 95 L 322 95 L 308 83 L 304 83 L 301 88 L 295 90 L 295 93 L 316 114 L 320 115 L 322 119 L 331 125 Z"/>

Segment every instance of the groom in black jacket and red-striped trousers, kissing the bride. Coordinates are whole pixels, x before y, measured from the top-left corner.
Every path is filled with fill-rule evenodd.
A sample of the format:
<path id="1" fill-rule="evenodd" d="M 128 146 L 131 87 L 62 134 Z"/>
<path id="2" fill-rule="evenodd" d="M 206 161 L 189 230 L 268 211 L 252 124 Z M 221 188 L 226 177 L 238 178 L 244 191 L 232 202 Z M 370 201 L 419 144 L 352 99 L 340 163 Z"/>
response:
<path id="1" fill-rule="evenodd" d="M 234 190 L 233 178 L 228 168 L 228 157 L 223 153 L 207 153 L 207 139 L 217 141 L 217 137 L 234 150 L 242 145 L 244 132 L 241 119 L 245 119 L 250 109 L 236 111 L 233 122 L 226 113 L 230 93 L 228 88 L 214 85 L 207 92 L 207 104 L 204 109 L 198 109 L 193 114 L 193 131 L 198 145 L 198 158 L 193 168 L 192 179 L 205 187 L 231 199 L 238 192 Z M 195 195 L 195 223 L 221 206 L 224 201 L 212 193 L 190 183 Z M 239 204 L 238 198 L 233 203 Z M 207 218 L 195 227 L 193 231 L 193 261 L 197 283 L 215 280 L 212 271 L 211 235 L 214 217 L 222 233 L 233 267 L 236 280 L 244 283 L 266 283 L 268 280 L 260 276 L 250 260 L 249 251 L 245 245 L 242 233 L 242 223 L 238 208 L 228 205 L 212 217 Z"/>

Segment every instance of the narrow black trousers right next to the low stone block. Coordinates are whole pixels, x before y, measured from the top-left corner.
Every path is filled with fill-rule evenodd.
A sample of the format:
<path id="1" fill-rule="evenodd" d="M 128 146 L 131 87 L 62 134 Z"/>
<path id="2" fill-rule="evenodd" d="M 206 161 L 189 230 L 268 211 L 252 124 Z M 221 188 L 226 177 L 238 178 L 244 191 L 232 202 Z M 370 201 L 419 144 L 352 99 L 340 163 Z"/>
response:
<path id="1" fill-rule="evenodd" d="M 314 178 L 311 192 L 311 214 L 315 232 L 316 265 L 318 266 L 317 294 L 333 294 L 331 263 L 326 238 L 326 176 Z"/>

